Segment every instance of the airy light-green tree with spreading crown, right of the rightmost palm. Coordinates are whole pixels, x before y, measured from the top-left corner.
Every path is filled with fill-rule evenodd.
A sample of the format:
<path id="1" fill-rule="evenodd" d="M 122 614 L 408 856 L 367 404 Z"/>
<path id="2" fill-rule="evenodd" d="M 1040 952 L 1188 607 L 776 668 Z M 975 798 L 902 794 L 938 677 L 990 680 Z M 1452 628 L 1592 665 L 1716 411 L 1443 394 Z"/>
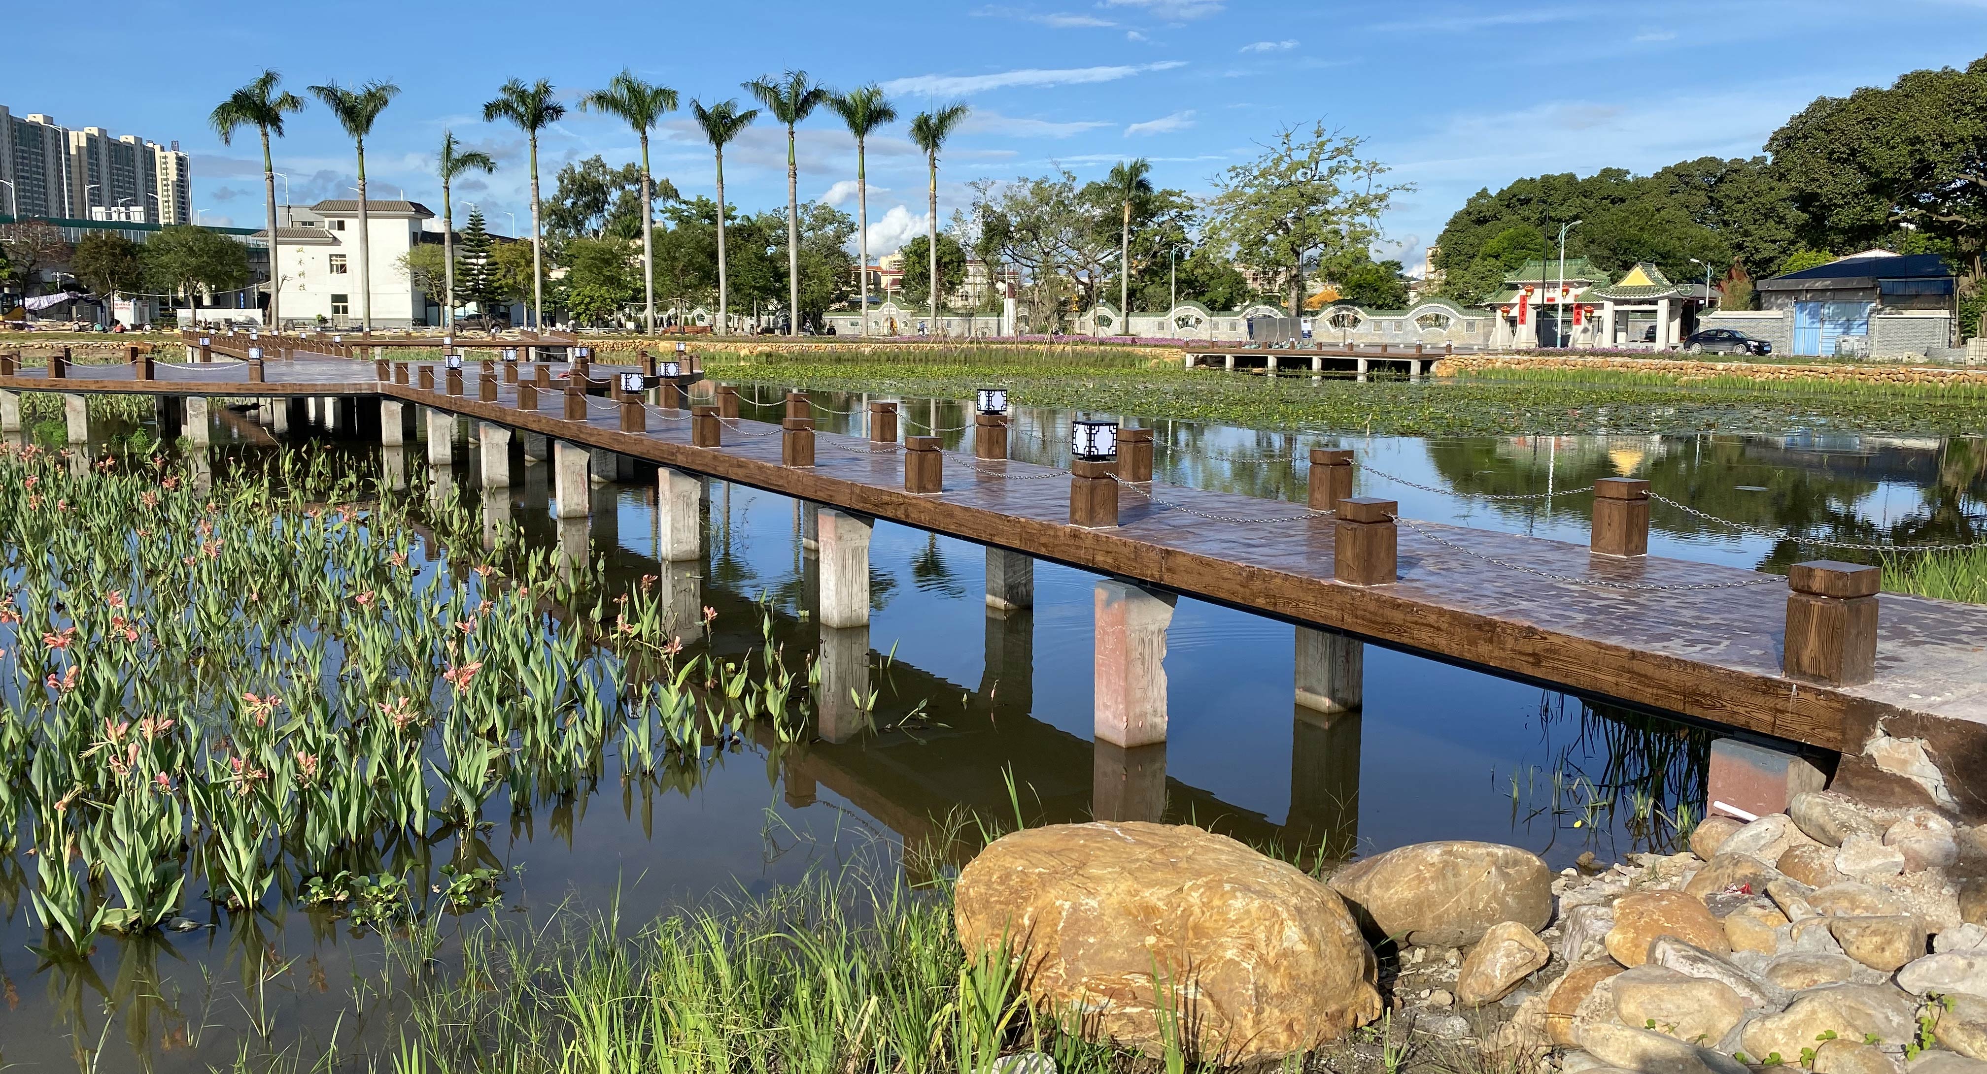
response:
<path id="1" fill-rule="evenodd" d="M 1276 145 L 1214 183 L 1210 232 L 1238 260 L 1280 272 L 1290 310 L 1303 304 L 1307 268 L 1369 248 L 1393 195 L 1413 189 L 1381 183 L 1387 165 L 1361 157 L 1361 145 L 1323 123 L 1309 137 L 1286 127 Z"/>

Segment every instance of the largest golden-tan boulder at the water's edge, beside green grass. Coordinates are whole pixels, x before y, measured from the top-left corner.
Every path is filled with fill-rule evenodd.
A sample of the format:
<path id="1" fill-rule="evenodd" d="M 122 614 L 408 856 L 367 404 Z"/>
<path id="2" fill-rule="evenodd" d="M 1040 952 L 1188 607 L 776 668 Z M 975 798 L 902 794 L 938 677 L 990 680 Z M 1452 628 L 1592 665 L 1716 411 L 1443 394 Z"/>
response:
<path id="1" fill-rule="evenodd" d="M 1381 1012 L 1373 951 L 1345 903 L 1200 828 L 1003 836 L 960 872 L 954 919 L 968 953 L 1011 947 L 1037 1010 L 1081 1012 L 1150 1056 L 1168 1007 L 1190 1007 L 1198 1054 L 1230 1064 L 1305 1052 Z"/>

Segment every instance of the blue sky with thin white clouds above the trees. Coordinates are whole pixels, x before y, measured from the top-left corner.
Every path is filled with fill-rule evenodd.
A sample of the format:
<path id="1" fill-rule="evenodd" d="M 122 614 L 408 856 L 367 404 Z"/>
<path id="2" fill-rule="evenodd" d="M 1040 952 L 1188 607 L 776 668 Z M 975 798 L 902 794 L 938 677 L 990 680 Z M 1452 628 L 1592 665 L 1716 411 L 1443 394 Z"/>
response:
<path id="1" fill-rule="evenodd" d="M 1617 14 L 1615 14 L 1617 12 Z M 91 60 L 87 36 L 97 42 Z M 1256 0 L 999 0 L 852 6 L 731 4 L 246 4 L 189 12 L 159 0 L 91 8 L 77 36 L 32 38 L 0 66 L 0 103 L 70 127 L 179 139 L 193 155 L 203 220 L 260 224 L 252 137 L 221 145 L 205 117 L 260 67 L 304 93 L 312 81 L 389 77 L 403 89 L 368 143 L 374 197 L 439 212 L 433 153 L 445 129 L 491 151 L 501 171 L 457 187 L 493 230 L 527 224 L 527 167 L 515 129 L 481 103 L 519 75 L 548 77 L 570 101 L 634 67 L 705 101 L 805 67 L 835 87 L 880 81 L 902 115 L 964 99 L 974 117 L 940 167 L 940 214 L 968 181 L 1041 175 L 1057 163 L 1097 177 L 1148 157 L 1166 187 L 1206 193 L 1224 167 L 1284 125 L 1369 139 L 1413 183 L 1383 220 L 1383 252 L 1419 264 L 1443 222 L 1480 187 L 1522 175 L 1753 155 L 1822 93 L 1888 83 L 1913 67 L 1987 54 L 1987 0 L 1723 0 L 1605 4 Z M 558 165 L 636 157 L 618 121 L 572 113 L 542 141 Z M 711 193 L 711 155 L 676 113 L 654 167 L 686 195 Z M 352 145 L 312 101 L 276 147 L 290 201 L 352 197 Z M 924 169 L 902 123 L 870 143 L 872 256 L 924 228 Z M 745 210 L 785 202 L 783 131 L 755 125 L 725 155 L 727 195 Z M 801 197 L 854 214 L 854 147 L 821 113 L 801 129 Z M 280 197 L 280 191 L 278 191 Z"/>

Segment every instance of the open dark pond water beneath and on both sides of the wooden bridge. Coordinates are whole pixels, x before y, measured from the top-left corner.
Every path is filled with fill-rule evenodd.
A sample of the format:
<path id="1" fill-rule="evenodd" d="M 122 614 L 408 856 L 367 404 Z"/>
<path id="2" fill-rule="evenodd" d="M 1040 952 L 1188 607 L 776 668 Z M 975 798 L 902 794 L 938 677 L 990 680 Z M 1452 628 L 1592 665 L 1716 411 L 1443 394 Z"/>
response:
<path id="1" fill-rule="evenodd" d="M 815 399 L 823 429 L 860 429 L 864 397 Z M 773 405 L 747 405 L 745 417 L 777 415 Z M 1069 417 L 1017 409 L 1013 455 L 1067 457 Z M 129 433 L 99 425 L 103 437 Z M 312 433 L 300 425 L 292 439 Z M 970 447 L 970 413 L 954 401 L 906 401 L 902 425 Z M 1572 542 L 1586 540 L 1584 496 L 1458 492 L 1562 492 L 1633 474 L 1758 530 L 1858 542 L 1977 538 L 1987 500 L 1979 439 L 1367 439 L 1152 425 L 1162 480 L 1298 500 L 1305 467 L 1292 459 L 1311 447 L 1351 447 L 1369 467 L 1357 492 L 1397 498 L 1407 516 Z M 217 419 L 217 441 L 221 470 L 272 451 L 266 433 L 236 413 Z M 354 467 L 391 467 L 413 480 L 473 486 L 481 472 L 473 449 L 457 451 L 453 474 L 413 467 L 425 457 L 419 445 L 382 451 L 348 441 L 346 451 Z M 608 764 L 602 780 L 560 800 L 525 810 L 491 802 L 485 816 L 497 826 L 483 850 L 507 870 L 501 913 L 521 921 L 542 921 L 558 905 L 614 903 L 622 919 L 646 921 L 878 848 L 890 856 L 906 842 L 962 862 L 978 844 L 970 828 L 946 824 L 956 810 L 1009 820 L 1019 812 L 1029 824 L 1087 820 L 1097 808 L 1123 812 L 1121 800 L 1097 794 L 1113 782 L 1162 788 L 1164 820 L 1206 824 L 1299 860 L 1474 838 L 1524 846 L 1564 868 L 1586 850 L 1611 860 L 1667 848 L 1679 822 L 1703 816 L 1701 731 L 1379 647 L 1367 649 L 1363 711 L 1325 721 L 1294 705 L 1292 625 L 1186 598 L 1168 631 L 1170 740 L 1133 754 L 1099 746 L 1091 738 L 1097 576 L 1037 564 L 1035 607 L 997 617 L 984 604 L 980 546 L 880 522 L 866 637 L 823 631 L 809 615 L 817 580 L 799 540 L 799 504 L 711 482 L 705 560 L 666 568 L 654 558 L 654 478 L 630 476 L 594 488 L 584 534 L 554 518 L 542 463 L 519 461 L 513 486 L 487 498 L 533 542 L 586 542 L 616 586 L 662 576 L 691 607 L 715 609 L 713 653 L 759 645 L 761 615 L 793 651 L 841 649 L 823 659 L 864 669 L 870 727 L 797 748 L 771 737 L 745 740 L 672 782 L 622 780 Z M 1661 506 L 1651 552 L 1768 570 L 1814 558 L 1812 548 Z M 356 975 L 382 959 L 372 933 L 274 895 L 268 917 L 242 923 L 195 895 L 185 913 L 201 929 L 105 935 L 87 963 L 50 967 L 30 951 L 42 943 L 28 909 L 32 875 L 32 858 L 16 854 L 0 877 L 0 1060 L 8 1064 L 205 1070 L 232 1062 L 242 1038 L 308 1056 L 334 1038 L 383 1032 L 380 1012 L 354 997 Z M 409 881 L 433 879 L 415 868 Z M 449 921 L 443 931 L 457 927 Z"/>

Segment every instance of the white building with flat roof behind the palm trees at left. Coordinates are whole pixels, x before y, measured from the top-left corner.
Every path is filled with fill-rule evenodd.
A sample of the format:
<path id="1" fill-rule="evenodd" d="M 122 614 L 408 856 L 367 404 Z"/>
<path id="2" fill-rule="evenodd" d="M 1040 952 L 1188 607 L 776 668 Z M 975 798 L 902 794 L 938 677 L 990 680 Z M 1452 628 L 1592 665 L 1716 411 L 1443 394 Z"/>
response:
<path id="1" fill-rule="evenodd" d="M 372 324 L 411 328 L 433 324 L 427 296 L 413 284 L 405 258 L 435 214 L 415 201 L 368 201 L 368 246 L 372 254 Z M 360 202 L 320 201 L 306 208 L 286 208 L 288 224 L 276 226 L 276 288 L 282 322 L 290 326 L 356 328 L 360 304 Z M 264 234 L 264 232 L 256 232 Z M 439 240 L 431 234 L 427 240 Z"/>

